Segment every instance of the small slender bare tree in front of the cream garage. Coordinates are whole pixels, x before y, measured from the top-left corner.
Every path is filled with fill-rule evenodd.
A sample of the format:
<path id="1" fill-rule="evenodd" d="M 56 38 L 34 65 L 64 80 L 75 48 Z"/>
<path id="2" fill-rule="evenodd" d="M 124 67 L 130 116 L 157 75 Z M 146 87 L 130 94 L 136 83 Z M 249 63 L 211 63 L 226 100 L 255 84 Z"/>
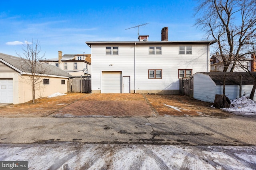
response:
<path id="1" fill-rule="evenodd" d="M 32 86 L 32 103 L 35 103 L 36 97 L 36 84 L 42 82 L 44 76 L 49 74 L 50 68 L 45 65 L 45 63 L 41 63 L 40 60 L 44 60 L 43 54 L 41 57 L 39 53 L 41 52 L 40 43 L 36 40 L 35 42 L 29 43 L 27 40 L 26 44 L 23 45 L 22 50 L 24 51 L 22 55 L 16 53 L 21 59 L 22 63 L 21 67 L 26 72 L 26 74 L 31 79 Z"/>

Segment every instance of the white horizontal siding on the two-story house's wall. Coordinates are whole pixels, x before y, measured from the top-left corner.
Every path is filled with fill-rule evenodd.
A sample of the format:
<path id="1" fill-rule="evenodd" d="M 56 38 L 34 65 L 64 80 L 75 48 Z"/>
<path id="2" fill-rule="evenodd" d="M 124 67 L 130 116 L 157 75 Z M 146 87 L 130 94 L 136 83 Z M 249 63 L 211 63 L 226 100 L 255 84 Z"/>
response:
<path id="1" fill-rule="evenodd" d="M 179 55 L 180 46 L 192 46 L 191 55 Z M 106 55 L 106 44 L 91 45 L 92 54 L 92 90 L 102 90 L 102 71 L 122 71 L 122 76 L 130 76 L 131 90 L 179 90 L 178 69 L 192 69 L 196 72 L 207 72 L 210 66 L 207 44 L 111 44 L 118 47 L 118 57 Z M 162 55 L 152 57 L 149 47 L 161 47 Z M 155 51 L 156 52 L 156 51 Z M 135 55 L 135 56 L 134 56 Z M 208 58 L 207 58 L 208 56 Z M 135 65 L 135 68 L 134 68 Z M 148 70 L 161 69 L 162 79 L 148 78 Z M 136 82 L 134 82 L 134 71 Z M 136 89 L 134 89 L 134 87 Z"/>

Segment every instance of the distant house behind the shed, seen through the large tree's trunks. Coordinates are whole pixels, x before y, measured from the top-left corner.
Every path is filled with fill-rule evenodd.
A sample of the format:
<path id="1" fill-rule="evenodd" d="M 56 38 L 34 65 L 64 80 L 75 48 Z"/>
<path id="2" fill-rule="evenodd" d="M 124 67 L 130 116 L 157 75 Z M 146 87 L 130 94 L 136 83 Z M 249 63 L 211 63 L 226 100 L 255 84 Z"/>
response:
<path id="1" fill-rule="evenodd" d="M 226 59 L 228 59 L 228 55 L 225 55 Z M 223 60 L 221 55 L 217 52 L 215 55 L 212 55 L 211 61 L 211 71 L 223 71 Z M 237 63 L 237 65 L 234 68 L 234 72 L 237 71 L 245 71 L 242 67 L 239 66 L 241 64 L 242 66 L 249 69 L 249 71 L 256 71 L 256 64 L 255 64 L 255 55 L 243 57 L 240 59 L 240 63 Z M 233 64 L 230 64 L 228 66 L 228 72 L 230 72 L 231 67 Z"/>

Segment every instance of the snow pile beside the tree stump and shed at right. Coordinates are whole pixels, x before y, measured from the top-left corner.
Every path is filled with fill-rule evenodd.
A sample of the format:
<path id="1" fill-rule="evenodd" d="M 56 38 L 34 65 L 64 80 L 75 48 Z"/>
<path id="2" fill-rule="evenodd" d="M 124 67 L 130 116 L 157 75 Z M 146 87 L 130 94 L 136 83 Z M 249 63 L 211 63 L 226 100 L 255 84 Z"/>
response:
<path id="1" fill-rule="evenodd" d="M 241 98 L 231 100 L 230 108 L 222 109 L 239 115 L 255 115 L 256 103 L 250 100 L 248 96 L 242 96 Z"/>

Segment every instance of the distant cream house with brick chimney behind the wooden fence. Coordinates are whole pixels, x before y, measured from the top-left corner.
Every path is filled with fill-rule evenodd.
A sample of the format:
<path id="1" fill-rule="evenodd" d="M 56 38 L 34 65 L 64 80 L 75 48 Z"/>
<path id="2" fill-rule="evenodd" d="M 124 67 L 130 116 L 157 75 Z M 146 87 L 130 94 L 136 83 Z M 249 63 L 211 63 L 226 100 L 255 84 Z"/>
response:
<path id="1" fill-rule="evenodd" d="M 66 71 L 72 77 L 91 75 L 91 55 L 90 54 L 65 54 L 59 51 L 59 57 L 54 59 L 45 59 L 41 62 L 51 64 Z"/>

